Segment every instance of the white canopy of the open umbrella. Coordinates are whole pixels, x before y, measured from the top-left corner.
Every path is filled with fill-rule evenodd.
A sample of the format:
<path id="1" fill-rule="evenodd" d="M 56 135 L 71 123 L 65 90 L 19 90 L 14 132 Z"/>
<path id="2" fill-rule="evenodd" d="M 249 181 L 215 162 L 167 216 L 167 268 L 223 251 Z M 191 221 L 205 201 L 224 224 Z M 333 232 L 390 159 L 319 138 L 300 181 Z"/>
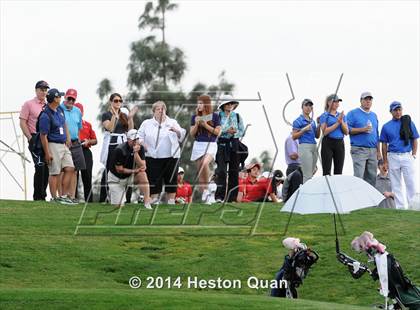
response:
<path id="1" fill-rule="evenodd" d="M 312 178 L 286 202 L 281 212 L 349 213 L 377 206 L 384 196 L 361 178 L 333 175 Z"/>

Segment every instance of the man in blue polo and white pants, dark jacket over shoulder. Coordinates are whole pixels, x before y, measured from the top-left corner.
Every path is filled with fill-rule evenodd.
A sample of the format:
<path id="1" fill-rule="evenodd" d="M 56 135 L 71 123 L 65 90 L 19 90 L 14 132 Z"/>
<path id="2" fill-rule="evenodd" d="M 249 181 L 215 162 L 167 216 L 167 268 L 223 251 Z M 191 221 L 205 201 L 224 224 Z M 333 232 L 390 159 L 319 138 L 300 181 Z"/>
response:
<path id="1" fill-rule="evenodd" d="M 379 141 L 382 143 L 384 165 L 388 168 L 397 209 L 407 209 L 416 194 L 414 160 L 419 134 L 408 115 L 402 115 L 402 105 L 391 103 L 392 120 L 383 125 Z M 402 192 L 401 175 L 406 187 L 407 203 Z"/>

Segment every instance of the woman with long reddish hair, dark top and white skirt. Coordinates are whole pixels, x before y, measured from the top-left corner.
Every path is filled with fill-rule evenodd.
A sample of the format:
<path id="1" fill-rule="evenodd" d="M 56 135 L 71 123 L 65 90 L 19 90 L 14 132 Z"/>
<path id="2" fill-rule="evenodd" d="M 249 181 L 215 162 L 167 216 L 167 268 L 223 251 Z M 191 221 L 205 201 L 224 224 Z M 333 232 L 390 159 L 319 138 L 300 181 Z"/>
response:
<path id="1" fill-rule="evenodd" d="M 191 118 L 190 134 L 194 137 L 191 160 L 197 163 L 198 184 L 201 199 L 208 201 L 209 165 L 217 153 L 217 137 L 220 134 L 220 117 L 213 112 L 210 96 L 197 98 L 197 108 Z"/>

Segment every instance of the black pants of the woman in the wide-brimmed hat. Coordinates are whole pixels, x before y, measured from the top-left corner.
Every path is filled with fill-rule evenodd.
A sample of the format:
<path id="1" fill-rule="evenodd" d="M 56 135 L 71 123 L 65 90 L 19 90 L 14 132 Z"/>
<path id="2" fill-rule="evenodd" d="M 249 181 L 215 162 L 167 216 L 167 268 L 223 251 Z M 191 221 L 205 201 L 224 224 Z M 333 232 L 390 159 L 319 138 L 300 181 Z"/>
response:
<path id="1" fill-rule="evenodd" d="M 238 142 L 234 139 L 219 138 L 216 154 L 216 185 L 215 199 L 236 201 L 238 196 L 239 157 Z M 226 182 L 226 178 L 227 182 Z M 226 188 L 227 183 L 227 188 Z"/>

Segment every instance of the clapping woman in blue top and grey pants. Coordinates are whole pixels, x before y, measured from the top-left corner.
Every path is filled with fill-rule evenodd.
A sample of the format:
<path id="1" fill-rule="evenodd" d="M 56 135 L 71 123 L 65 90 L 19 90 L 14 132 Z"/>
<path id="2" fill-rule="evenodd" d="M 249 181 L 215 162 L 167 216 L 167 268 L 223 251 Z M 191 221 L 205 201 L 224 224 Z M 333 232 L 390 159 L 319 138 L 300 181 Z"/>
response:
<path id="1" fill-rule="evenodd" d="M 316 126 L 311 118 L 313 106 L 312 100 L 303 100 L 302 114 L 293 122 L 292 138 L 299 139 L 298 155 L 302 165 L 303 183 L 314 175 L 318 160 L 315 138 L 319 138 L 320 126 Z"/>

